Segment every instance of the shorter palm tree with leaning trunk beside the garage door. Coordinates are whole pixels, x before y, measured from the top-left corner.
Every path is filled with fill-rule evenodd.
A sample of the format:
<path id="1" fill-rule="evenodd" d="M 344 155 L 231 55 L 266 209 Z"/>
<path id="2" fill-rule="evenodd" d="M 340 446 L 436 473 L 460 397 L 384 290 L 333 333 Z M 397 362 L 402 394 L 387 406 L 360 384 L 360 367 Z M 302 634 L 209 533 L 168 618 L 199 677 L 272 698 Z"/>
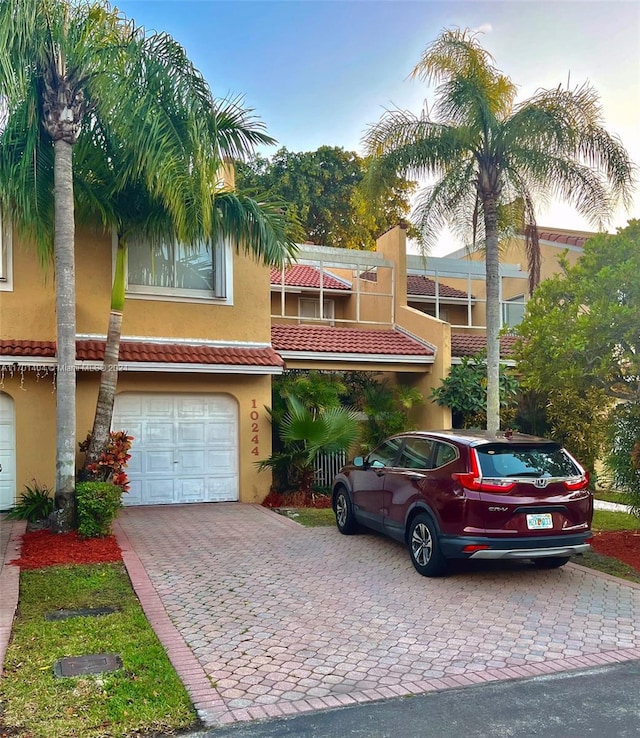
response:
<path id="1" fill-rule="evenodd" d="M 228 101 L 223 101 L 219 109 L 228 109 Z M 175 110 L 173 112 L 175 113 Z M 215 114 L 217 110 L 213 112 Z M 229 120 L 226 126 L 227 131 L 231 132 Z M 247 127 L 246 123 L 244 130 L 242 129 L 239 116 L 236 116 L 235 127 L 233 134 L 237 139 L 251 133 L 251 127 Z M 265 142 L 269 140 L 266 136 L 263 139 Z M 76 180 L 80 181 L 77 196 L 79 216 L 87 223 L 95 223 L 95 218 L 99 214 L 105 228 L 112 229 L 117 234 L 117 249 L 103 368 L 83 475 L 88 474 L 90 465 L 100 458 L 109 442 L 118 379 L 129 242 L 134 240 L 145 242 L 153 248 L 162 243 L 179 242 L 187 247 L 194 247 L 203 240 L 211 244 L 222 240 L 235 245 L 237 249 L 243 249 L 255 259 L 274 266 L 288 262 L 297 248 L 295 242 L 287 235 L 287 233 L 295 234 L 297 225 L 290 218 L 288 221 L 285 219 L 280 203 L 249 198 L 229 189 L 223 182 L 212 185 L 215 197 L 210 231 L 208 233 L 204 231 L 202 216 L 191 218 L 180 225 L 165 208 L 161 200 L 163 193 L 153 197 L 140 180 L 128 182 L 124 186 L 118 184 L 115 170 L 121 168 L 121 159 L 123 154 L 126 154 L 122 147 L 107 147 L 108 156 L 105 157 L 104 144 L 102 148 L 96 149 L 93 143 L 89 137 L 79 143 L 78 153 L 81 156 L 76 167 Z M 224 155 L 227 145 L 223 139 L 220 143 L 221 155 Z M 251 146 L 249 141 L 245 145 L 247 149 Z M 188 147 L 185 147 L 185 150 L 188 150 Z M 236 155 L 237 153 L 236 147 Z M 220 168 L 224 166 L 222 160 L 219 166 Z M 185 161 L 182 171 L 176 171 L 174 174 L 180 177 L 184 201 L 195 203 L 199 197 L 199 182 L 197 179 L 184 176 L 188 167 L 189 162 Z M 97 177 L 97 172 L 101 170 L 102 176 Z M 164 181 L 168 189 L 173 187 L 171 181 L 166 178 Z M 202 206 L 211 206 L 208 198 Z M 192 210 L 195 212 L 193 205 Z"/>

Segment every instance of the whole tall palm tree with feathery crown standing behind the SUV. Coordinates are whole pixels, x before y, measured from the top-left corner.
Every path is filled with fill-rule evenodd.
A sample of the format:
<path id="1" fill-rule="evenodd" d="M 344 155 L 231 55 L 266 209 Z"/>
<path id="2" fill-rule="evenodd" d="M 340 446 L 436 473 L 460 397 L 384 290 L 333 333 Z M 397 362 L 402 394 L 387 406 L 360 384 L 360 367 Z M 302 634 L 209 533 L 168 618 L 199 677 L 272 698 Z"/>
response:
<path id="1" fill-rule="evenodd" d="M 544 90 L 518 105 L 516 85 L 468 31 L 445 30 L 413 76 L 433 82 L 433 115 L 393 110 L 366 136 L 383 171 L 435 177 L 415 210 L 425 252 L 446 223 L 484 242 L 487 284 L 487 429 L 500 428 L 499 234 L 526 224 L 531 286 L 539 279 L 535 201 L 562 197 L 597 226 L 628 204 L 633 166 L 602 125 L 595 91 Z M 515 221 L 515 222 L 514 222 Z"/>

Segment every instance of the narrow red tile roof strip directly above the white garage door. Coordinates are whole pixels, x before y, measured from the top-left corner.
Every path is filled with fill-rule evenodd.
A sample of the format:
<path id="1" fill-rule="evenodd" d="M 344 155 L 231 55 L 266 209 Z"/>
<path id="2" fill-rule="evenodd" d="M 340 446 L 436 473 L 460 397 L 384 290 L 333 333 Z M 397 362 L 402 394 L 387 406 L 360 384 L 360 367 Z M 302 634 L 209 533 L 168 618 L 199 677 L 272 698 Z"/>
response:
<path id="1" fill-rule="evenodd" d="M 0 341 L 0 360 L 3 356 L 55 358 L 53 341 Z M 76 341 L 78 361 L 100 362 L 104 356 L 104 341 Z M 156 364 L 228 364 L 234 366 L 284 366 L 284 362 L 270 347 L 244 348 L 240 346 L 208 346 L 205 344 L 152 343 L 127 341 L 120 344 L 120 361 Z"/>

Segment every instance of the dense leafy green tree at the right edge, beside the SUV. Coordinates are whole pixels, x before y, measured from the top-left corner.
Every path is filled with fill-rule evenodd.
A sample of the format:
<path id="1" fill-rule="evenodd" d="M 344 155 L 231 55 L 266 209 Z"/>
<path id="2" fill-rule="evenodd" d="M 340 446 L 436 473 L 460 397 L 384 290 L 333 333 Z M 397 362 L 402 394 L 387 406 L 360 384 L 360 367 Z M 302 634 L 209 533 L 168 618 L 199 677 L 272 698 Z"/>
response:
<path id="1" fill-rule="evenodd" d="M 514 355 L 523 385 L 546 398 L 554 434 L 593 468 L 610 409 L 628 408 L 613 412 L 615 435 L 640 407 L 640 221 L 589 239 L 562 267 L 527 304 Z"/>

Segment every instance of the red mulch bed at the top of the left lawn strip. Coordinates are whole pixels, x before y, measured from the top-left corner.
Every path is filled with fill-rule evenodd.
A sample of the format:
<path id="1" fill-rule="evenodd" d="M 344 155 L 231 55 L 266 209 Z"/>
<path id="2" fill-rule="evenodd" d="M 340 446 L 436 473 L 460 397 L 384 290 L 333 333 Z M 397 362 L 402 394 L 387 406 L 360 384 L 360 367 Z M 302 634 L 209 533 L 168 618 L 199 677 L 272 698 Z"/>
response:
<path id="1" fill-rule="evenodd" d="M 12 564 L 21 569 L 41 569 L 64 564 L 103 564 L 121 561 L 115 536 L 80 538 L 77 532 L 28 531 L 22 536 L 22 552 Z"/>

